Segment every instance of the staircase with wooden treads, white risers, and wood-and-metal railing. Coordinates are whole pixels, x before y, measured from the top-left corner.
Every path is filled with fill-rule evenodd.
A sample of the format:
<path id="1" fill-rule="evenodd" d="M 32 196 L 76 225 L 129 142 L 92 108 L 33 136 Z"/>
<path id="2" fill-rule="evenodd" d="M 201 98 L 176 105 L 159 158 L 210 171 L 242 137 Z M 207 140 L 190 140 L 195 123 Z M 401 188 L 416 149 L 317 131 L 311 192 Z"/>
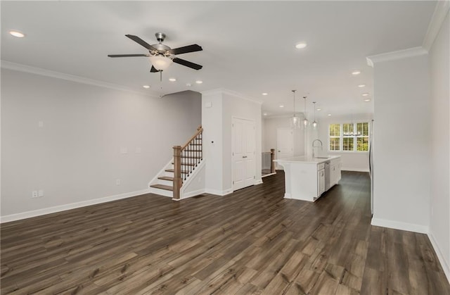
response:
<path id="1" fill-rule="evenodd" d="M 203 128 L 201 125 L 197 132 L 184 146 L 174 146 L 174 158 L 167 163 L 158 176 L 150 183 L 150 192 L 161 196 L 170 196 L 180 199 L 180 189 L 195 168 L 203 160 Z"/>

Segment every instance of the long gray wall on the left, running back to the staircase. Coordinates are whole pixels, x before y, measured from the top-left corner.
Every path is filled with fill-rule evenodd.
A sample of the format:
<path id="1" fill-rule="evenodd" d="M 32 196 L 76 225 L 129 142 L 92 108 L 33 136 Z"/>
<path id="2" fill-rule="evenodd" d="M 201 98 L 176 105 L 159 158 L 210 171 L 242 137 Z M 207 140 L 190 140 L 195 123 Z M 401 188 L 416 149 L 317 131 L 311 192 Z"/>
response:
<path id="1" fill-rule="evenodd" d="M 1 215 L 147 189 L 200 125 L 200 103 L 2 69 Z"/>

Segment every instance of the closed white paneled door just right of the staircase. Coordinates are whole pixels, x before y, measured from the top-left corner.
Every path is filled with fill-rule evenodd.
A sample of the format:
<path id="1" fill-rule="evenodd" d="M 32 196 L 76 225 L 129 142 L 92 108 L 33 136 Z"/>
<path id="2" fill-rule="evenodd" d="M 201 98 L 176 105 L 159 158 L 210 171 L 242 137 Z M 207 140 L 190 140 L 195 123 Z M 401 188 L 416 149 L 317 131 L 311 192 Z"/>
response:
<path id="1" fill-rule="evenodd" d="M 255 184 L 255 122 L 233 118 L 233 191 Z"/>

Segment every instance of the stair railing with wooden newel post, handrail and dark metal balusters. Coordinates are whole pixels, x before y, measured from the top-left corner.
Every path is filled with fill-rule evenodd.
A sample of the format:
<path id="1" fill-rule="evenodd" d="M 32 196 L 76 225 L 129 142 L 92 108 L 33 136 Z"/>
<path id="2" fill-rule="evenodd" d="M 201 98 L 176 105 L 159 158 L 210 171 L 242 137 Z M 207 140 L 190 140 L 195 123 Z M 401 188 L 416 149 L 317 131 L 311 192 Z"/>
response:
<path id="1" fill-rule="evenodd" d="M 174 146 L 174 199 L 180 199 L 180 189 L 184 180 L 203 159 L 203 127 L 184 146 Z"/>

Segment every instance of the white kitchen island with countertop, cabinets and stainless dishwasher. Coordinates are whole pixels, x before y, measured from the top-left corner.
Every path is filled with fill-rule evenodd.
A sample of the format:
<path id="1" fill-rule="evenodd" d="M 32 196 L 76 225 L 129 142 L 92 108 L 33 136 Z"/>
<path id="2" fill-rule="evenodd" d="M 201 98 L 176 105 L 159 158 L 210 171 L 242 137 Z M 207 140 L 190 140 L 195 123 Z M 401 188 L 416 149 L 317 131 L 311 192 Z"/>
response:
<path id="1" fill-rule="evenodd" d="M 286 199 L 316 201 L 340 180 L 340 156 L 300 156 L 275 161 L 284 168 Z"/>

